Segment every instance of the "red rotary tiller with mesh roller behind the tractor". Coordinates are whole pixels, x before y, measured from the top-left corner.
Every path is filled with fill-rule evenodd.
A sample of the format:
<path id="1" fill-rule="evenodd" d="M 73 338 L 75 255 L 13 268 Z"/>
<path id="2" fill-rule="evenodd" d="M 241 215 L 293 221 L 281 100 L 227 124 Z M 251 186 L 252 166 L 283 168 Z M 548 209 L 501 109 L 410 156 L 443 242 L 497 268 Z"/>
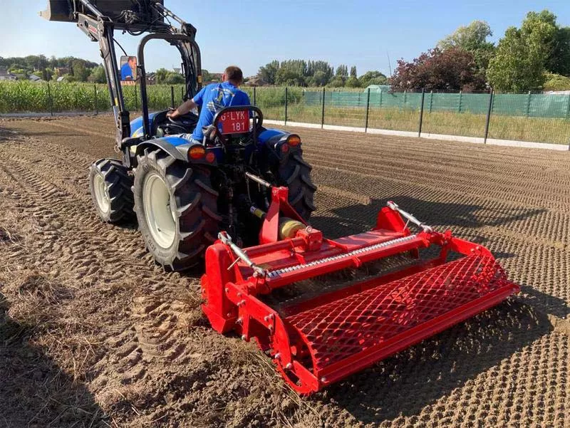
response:
<path id="1" fill-rule="evenodd" d="M 410 223 L 418 226 L 417 233 Z M 244 340 L 257 340 L 301 394 L 316 392 L 519 291 L 489 250 L 451 231 L 434 231 L 393 202 L 380 210 L 372 231 L 331 240 L 304 224 L 287 202 L 286 187 L 274 187 L 260 242 L 240 249 L 227 234 L 219 234 L 206 252 L 202 308 L 219 333 L 234 330 Z M 420 251 L 437 247 L 432 258 L 420 257 Z M 451 252 L 462 257 L 447 261 Z M 289 299 L 293 303 L 271 299 L 279 288 L 294 283 L 302 288 L 300 281 L 393 257 L 408 263 L 340 288 L 325 286 L 318 296 Z"/>

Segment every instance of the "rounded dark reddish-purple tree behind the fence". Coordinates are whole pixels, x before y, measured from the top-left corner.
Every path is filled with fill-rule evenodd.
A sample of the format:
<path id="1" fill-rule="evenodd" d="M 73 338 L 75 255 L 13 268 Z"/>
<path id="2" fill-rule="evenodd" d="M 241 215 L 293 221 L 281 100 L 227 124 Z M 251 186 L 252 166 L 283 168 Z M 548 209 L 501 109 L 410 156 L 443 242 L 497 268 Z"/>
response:
<path id="1" fill-rule="evenodd" d="M 398 60 L 392 78 L 394 90 L 482 90 L 484 78 L 473 54 L 460 48 L 440 48 L 422 53 L 413 62 Z"/>

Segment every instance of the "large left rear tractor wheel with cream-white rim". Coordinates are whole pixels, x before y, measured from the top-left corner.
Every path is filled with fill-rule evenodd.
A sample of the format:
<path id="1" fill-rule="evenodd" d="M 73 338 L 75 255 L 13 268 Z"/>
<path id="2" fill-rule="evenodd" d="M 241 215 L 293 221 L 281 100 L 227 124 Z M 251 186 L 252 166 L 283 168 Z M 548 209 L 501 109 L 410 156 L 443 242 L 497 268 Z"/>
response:
<path id="1" fill-rule="evenodd" d="M 135 212 L 145 245 L 155 261 L 183 271 L 203 260 L 217 238 L 218 193 L 209 169 L 187 165 L 162 150 L 145 150 L 135 171 Z"/>

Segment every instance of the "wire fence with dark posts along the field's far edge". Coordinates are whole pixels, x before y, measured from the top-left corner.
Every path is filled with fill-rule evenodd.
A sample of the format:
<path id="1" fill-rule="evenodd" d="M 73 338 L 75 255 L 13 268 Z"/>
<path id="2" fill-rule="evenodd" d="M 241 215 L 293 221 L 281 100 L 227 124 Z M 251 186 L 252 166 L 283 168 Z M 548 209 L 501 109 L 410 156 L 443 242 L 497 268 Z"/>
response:
<path id="1" fill-rule="evenodd" d="M 475 137 L 570 147 L 570 94 L 403 92 L 341 88 L 244 88 L 264 118 L 423 136 Z M 140 88 L 123 86 L 140 111 Z M 183 85 L 148 85 L 149 110 L 182 103 Z M 0 82 L 0 113 L 110 111 L 106 85 Z"/>

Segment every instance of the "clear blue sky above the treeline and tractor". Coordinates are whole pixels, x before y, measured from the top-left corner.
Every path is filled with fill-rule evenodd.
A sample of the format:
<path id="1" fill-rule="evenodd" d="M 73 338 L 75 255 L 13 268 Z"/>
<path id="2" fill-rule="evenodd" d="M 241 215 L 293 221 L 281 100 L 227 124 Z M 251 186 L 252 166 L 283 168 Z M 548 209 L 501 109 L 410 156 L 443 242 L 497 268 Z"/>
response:
<path id="1" fill-rule="evenodd" d="M 0 0 L 0 56 L 77 56 L 100 62 L 98 46 L 74 24 L 48 22 L 38 16 L 46 0 Z M 388 74 L 388 56 L 411 60 L 435 46 L 457 26 L 474 19 L 487 21 L 494 35 L 519 26 L 527 11 L 549 9 L 561 25 L 570 26 L 569 0 L 510 1 L 321 1 L 321 0 L 165 0 L 175 14 L 198 29 L 202 68 L 219 72 L 228 64 L 245 75 L 273 59 L 304 58 L 356 66 L 358 74 Z M 25 7 L 24 7 L 25 6 Z M 118 35 L 128 53 L 137 41 Z M 175 48 L 149 43 L 147 68 L 172 68 L 180 63 Z"/>

